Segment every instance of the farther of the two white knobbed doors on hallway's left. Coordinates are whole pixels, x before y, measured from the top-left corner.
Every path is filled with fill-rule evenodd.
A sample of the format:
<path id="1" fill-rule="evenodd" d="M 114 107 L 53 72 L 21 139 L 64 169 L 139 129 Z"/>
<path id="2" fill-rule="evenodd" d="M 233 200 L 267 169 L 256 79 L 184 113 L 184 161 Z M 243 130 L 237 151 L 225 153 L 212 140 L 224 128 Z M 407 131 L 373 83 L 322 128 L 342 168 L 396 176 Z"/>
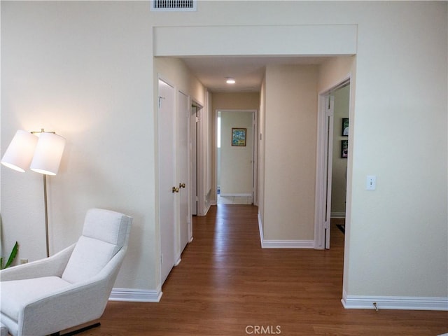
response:
<path id="1" fill-rule="evenodd" d="M 188 204 L 190 195 L 190 179 L 188 169 L 188 128 L 190 127 L 190 100 L 186 94 L 178 93 L 179 102 L 179 225 L 180 225 L 180 253 L 188 241 L 193 237 L 192 221 Z"/>

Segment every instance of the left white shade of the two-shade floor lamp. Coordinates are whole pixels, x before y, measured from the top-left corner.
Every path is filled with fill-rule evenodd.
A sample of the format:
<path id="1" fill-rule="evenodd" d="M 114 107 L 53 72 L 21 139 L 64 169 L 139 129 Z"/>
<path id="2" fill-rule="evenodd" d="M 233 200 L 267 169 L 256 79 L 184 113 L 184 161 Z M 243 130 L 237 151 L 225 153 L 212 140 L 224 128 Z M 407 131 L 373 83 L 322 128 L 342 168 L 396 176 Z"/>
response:
<path id="1" fill-rule="evenodd" d="M 1 164 L 18 172 L 25 172 L 34 155 L 38 137 L 27 131 L 18 130 L 6 149 Z"/>

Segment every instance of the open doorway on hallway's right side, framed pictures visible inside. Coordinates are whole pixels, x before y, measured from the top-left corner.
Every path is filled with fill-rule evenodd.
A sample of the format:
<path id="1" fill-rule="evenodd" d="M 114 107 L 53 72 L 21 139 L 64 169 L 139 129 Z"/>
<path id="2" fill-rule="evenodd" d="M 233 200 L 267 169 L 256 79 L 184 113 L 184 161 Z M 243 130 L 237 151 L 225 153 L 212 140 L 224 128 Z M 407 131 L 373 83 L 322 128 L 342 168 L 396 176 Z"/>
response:
<path id="1" fill-rule="evenodd" d="M 350 78 L 319 95 L 314 227 L 316 249 L 330 248 L 331 218 L 345 219 L 349 111 Z M 345 229 L 345 221 L 343 223 Z"/>

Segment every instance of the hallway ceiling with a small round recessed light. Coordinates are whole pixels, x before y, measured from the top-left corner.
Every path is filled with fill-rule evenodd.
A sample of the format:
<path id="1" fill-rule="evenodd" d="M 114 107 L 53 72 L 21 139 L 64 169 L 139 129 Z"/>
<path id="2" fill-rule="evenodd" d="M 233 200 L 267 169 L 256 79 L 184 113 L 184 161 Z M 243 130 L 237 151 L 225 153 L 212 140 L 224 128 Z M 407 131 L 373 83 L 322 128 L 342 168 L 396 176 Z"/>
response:
<path id="1" fill-rule="evenodd" d="M 210 56 L 181 59 L 211 92 L 258 92 L 268 64 L 321 64 L 327 57 Z M 235 78 L 237 83 L 226 84 L 227 77 Z"/>

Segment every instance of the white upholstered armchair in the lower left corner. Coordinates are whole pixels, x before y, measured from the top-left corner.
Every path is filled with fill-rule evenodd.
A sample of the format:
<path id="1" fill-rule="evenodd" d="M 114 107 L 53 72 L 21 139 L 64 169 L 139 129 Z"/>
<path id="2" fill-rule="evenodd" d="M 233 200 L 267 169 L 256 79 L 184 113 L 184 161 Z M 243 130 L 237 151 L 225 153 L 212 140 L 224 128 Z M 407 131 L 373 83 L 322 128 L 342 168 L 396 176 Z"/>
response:
<path id="1" fill-rule="evenodd" d="M 132 218 L 90 209 L 83 235 L 59 253 L 0 272 L 0 321 L 13 336 L 59 335 L 106 308 Z M 99 323 L 97 323 L 99 325 Z"/>

